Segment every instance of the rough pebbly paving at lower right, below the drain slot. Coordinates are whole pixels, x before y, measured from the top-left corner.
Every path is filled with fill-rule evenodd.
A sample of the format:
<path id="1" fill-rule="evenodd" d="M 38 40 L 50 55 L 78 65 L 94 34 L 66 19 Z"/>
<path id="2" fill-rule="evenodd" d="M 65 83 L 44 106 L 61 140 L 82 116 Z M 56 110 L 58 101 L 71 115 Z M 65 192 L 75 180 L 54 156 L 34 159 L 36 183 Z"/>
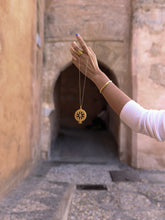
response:
<path id="1" fill-rule="evenodd" d="M 68 219 L 163 220 L 164 190 L 164 184 L 125 182 L 108 185 L 108 191 L 79 190 L 72 198 Z"/>

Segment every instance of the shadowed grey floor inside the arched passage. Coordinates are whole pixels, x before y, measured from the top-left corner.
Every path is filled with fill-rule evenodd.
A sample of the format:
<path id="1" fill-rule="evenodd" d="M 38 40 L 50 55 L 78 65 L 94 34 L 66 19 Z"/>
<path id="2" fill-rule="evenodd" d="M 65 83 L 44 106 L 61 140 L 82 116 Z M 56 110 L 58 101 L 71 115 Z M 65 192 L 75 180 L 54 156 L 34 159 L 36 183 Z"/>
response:
<path id="1" fill-rule="evenodd" d="M 61 129 L 52 142 L 52 160 L 79 163 L 114 163 L 117 144 L 106 130 Z"/>

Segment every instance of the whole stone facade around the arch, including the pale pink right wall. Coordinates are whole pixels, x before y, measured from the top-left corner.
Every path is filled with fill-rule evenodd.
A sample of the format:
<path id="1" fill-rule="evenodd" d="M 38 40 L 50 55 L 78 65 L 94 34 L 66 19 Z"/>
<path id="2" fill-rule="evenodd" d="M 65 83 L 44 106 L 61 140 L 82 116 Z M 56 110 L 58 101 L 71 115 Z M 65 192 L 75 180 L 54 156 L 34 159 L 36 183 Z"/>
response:
<path id="1" fill-rule="evenodd" d="M 94 49 L 98 60 L 115 73 L 124 92 L 146 108 L 164 109 L 164 0 L 49 0 L 45 24 L 44 158 L 50 150 L 49 116 L 58 110 L 54 86 L 60 73 L 71 64 L 69 48 L 77 32 Z M 57 132 L 58 120 L 54 118 Z M 131 132 L 122 122 L 118 143 L 120 160 L 137 168 L 164 169 L 163 143 Z"/>

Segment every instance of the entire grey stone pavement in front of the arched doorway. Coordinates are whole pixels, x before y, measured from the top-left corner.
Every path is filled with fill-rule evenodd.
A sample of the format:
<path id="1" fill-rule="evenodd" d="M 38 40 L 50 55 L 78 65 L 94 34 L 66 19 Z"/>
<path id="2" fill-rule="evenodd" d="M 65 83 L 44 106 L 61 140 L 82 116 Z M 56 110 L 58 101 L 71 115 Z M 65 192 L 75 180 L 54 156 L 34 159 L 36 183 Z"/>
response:
<path id="1" fill-rule="evenodd" d="M 60 153 L 64 161 L 59 154 L 40 164 L 1 200 L 0 220 L 165 219 L 165 171 L 134 170 L 114 154 L 97 161 L 96 152 L 96 158 L 89 153 L 88 160 L 77 155 L 71 161 L 68 152 Z M 115 171 L 120 178 L 112 178 Z"/>

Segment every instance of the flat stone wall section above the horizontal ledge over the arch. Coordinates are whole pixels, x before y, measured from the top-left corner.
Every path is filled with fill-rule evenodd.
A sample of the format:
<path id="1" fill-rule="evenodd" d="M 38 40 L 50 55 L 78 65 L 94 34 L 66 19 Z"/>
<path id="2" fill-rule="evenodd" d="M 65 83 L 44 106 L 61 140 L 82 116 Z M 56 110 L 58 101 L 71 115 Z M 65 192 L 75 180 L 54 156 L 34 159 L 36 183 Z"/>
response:
<path id="1" fill-rule="evenodd" d="M 46 10 L 46 38 L 68 41 L 81 33 L 88 40 L 123 41 L 129 34 L 129 13 L 130 0 L 53 0 Z"/>

